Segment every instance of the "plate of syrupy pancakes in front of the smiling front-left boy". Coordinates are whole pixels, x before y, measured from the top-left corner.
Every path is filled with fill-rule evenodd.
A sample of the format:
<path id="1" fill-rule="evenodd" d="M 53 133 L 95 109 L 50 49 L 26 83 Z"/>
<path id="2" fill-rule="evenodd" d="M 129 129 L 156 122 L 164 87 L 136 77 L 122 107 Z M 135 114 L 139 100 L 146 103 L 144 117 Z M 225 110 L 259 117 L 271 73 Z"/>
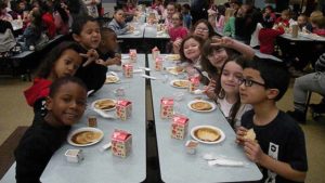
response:
<path id="1" fill-rule="evenodd" d="M 104 136 L 102 130 L 98 128 L 84 127 L 73 131 L 67 141 L 74 146 L 89 146 L 100 142 Z"/>

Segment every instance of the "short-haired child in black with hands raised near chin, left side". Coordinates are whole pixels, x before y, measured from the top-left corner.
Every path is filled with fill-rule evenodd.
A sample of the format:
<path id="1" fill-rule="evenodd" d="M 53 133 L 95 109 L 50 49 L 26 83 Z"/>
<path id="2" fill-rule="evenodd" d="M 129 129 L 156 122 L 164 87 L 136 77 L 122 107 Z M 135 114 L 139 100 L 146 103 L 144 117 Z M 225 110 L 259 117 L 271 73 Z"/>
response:
<path id="1" fill-rule="evenodd" d="M 100 62 L 95 49 L 101 43 L 99 22 L 92 16 L 79 16 L 73 23 L 73 38 L 82 47 L 82 56 L 88 60 L 79 67 L 76 77 L 80 78 L 88 90 L 99 90 L 103 87 L 107 67 Z"/>

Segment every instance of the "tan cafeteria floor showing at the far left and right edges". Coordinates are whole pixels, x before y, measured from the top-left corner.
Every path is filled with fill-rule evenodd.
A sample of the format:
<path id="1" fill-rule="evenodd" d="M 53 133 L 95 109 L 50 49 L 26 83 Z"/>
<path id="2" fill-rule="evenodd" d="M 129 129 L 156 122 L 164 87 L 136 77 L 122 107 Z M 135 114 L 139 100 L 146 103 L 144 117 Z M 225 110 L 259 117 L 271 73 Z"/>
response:
<path id="1" fill-rule="evenodd" d="M 29 126 L 32 119 L 32 108 L 26 104 L 23 91 L 31 82 L 22 81 L 18 78 L 0 78 L 0 144 L 18 127 Z M 321 96 L 312 95 L 311 103 L 318 103 Z M 292 83 L 278 102 L 278 107 L 283 110 L 292 109 Z M 135 114 L 134 114 L 135 115 Z M 148 119 L 152 118 L 148 116 Z M 307 125 L 301 126 L 307 140 L 307 151 L 309 160 L 309 172 L 307 183 L 325 182 L 325 118 L 313 121 L 309 113 Z M 148 148 L 153 148 L 148 146 Z"/>

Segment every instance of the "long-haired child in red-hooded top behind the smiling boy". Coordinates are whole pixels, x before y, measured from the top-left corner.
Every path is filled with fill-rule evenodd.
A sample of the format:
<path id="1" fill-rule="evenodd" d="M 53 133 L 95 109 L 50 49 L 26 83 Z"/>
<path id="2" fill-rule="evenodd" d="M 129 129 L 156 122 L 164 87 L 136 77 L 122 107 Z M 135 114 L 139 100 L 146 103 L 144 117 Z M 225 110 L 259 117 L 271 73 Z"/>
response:
<path id="1" fill-rule="evenodd" d="M 32 86 L 24 91 L 28 105 L 34 107 L 35 118 L 47 115 L 46 99 L 49 96 L 52 82 L 76 74 L 82 62 L 80 51 L 81 48 L 76 42 L 62 42 L 41 62 Z"/>

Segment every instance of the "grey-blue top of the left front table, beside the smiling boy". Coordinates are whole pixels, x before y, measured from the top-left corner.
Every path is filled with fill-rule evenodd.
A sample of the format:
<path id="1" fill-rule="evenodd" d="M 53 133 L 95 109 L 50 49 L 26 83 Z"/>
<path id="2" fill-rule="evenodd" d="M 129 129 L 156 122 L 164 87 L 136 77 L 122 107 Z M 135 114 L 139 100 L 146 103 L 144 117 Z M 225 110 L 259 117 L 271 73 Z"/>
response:
<path id="1" fill-rule="evenodd" d="M 134 67 L 145 65 L 145 55 L 139 54 Z M 133 78 L 125 78 L 121 71 L 117 73 L 121 79 L 120 83 L 105 84 L 100 91 L 90 96 L 88 102 L 91 104 L 95 100 L 103 97 L 117 99 L 114 90 L 125 88 L 126 95 L 132 102 L 132 115 L 130 119 L 121 121 L 119 119 L 104 119 L 92 112 L 90 105 L 79 123 L 73 127 L 73 130 L 80 127 L 87 127 L 87 117 L 95 115 L 98 118 L 98 128 L 104 132 L 104 139 L 92 146 L 75 147 L 65 143 L 51 158 L 46 170 L 41 175 L 41 182 L 47 183 L 104 183 L 120 182 L 134 183 L 142 182 L 146 178 L 146 121 L 145 121 L 145 79 L 141 74 L 134 74 Z M 114 114 L 114 112 L 109 112 Z M 110 142 L 110 135 L 114 129 L 129 131 L 132 134 L 132 149 L 127 158 L 116 157 L 112 151 L 100 152 L 99 149 Z M 83 151 L 84 160 L 79 164 L 67 162 L 64 156 L 69 148 L 79 148 Z"/>

